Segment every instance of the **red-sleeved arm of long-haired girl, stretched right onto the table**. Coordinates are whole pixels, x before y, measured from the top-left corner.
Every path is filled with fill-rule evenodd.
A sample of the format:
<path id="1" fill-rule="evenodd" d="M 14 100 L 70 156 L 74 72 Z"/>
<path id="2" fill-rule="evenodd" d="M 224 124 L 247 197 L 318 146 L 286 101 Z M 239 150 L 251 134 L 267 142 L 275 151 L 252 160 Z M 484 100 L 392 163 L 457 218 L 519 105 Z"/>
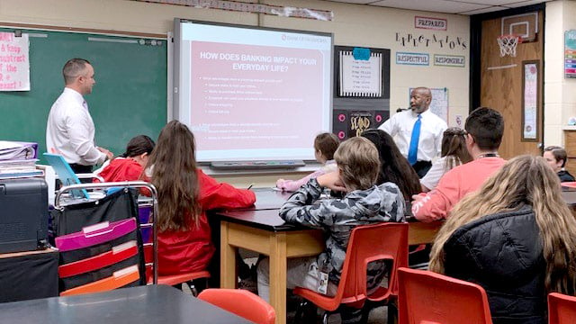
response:
<path id="1" fill-rule="evenodd" d="M 202 170 L 197 169 L 200 185 L 200 202 L 205 210 L 217 208 L 243 208 L 256 202 L 256 194 L 247 189 L 238 189 L 230 184 L 218 183 Z"/>

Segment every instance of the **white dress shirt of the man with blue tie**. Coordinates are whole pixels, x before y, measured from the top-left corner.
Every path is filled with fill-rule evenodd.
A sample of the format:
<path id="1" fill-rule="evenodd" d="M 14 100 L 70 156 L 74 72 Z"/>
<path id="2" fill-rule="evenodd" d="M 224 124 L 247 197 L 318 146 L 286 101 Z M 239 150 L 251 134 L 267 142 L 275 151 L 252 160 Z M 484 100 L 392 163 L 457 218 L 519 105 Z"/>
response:
<path id="1" fill-rule="evenodd" d="M 418 161 L 432 161 L 442 151 L 442 136 L 448 125 L 446 125 L 446 121 L 443 121 L 434 112 L 430 112 L 429 109 L 420 113 L 420 116 L 422 117 L 422 123 L 420 125 L 417 159 Z M 397 112 L 378 129 L 390 134 L 398 148 L 400 148 L 402 155 L 408 157 L 412 129 L 416 120 L 418 120 L 418 113 L 411 110 Z"/>

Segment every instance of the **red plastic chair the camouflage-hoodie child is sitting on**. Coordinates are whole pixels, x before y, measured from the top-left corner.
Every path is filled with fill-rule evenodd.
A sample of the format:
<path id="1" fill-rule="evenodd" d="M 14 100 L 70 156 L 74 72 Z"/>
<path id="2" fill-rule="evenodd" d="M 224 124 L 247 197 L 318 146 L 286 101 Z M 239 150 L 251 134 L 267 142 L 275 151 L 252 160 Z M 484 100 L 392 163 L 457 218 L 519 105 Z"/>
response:
<path id="1" fill-rule="evenodd" d="M 376 292 L 368 295 L 366 266 L 376 260 L 392 261 L 389 284 L 388 287 L 379 287 Z M 324 310 L 322 321 L 328 323 L 329 315 L 337 311 L 340 304 L 362 308 L 367 300 L 391 300 L 398 294 L 396 272 L 400 266 L 408 266 L 408 223 L 389 222 L 358 226 L 352 229 L 350 235 L 336 295 L 329 297 L 302 287 L 296 287 L 294 293 Z M 301 304 L 301 310 L 297 311 L 296 320 L 300 320 L 303 306 Z"/>

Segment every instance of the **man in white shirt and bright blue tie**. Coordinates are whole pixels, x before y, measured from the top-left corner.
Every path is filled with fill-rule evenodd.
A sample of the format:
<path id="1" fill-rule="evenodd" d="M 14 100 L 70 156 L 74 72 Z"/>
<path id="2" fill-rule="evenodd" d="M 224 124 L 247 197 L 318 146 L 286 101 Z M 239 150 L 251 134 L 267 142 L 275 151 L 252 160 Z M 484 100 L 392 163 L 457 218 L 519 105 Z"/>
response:
<path id="1" fill-rule="evenodd" d="M 430 89 L 417 87 L 410 94 L 410 110 L 392 115 L 379 127 L 394 138 L 420 178 L 428 173 L 432 159 L 440 155 L 442 134 L 448 127 L 428 109 L 431 101 Z"/>

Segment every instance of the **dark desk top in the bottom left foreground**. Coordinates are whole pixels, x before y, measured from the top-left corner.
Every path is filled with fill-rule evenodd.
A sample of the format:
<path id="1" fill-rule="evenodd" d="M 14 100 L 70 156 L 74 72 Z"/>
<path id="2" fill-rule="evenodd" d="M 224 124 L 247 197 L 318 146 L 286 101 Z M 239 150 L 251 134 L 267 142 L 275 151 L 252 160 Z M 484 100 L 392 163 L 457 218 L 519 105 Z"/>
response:
<path id="1" fill-rule="evenodd" d="M 250 323 L 166 285 L 0 304 L 0 323 Z"/>

